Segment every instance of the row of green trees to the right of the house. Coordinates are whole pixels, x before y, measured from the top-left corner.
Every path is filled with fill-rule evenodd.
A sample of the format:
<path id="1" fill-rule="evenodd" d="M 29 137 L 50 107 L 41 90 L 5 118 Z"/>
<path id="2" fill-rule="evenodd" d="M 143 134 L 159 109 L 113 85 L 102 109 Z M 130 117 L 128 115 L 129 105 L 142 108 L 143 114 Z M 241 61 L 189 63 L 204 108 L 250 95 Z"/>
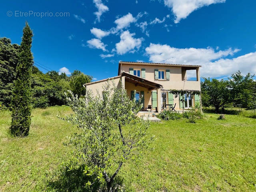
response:
<path id="1" fill-rule="evenodd" d="M 243 76 L 240 71 L 231 75 L 228 80 L 204 78 L 201 82 L 202 105 L 213 106 L 216 112 L 227 106 L 238 106 L 247 109 L 256 108 L 256 82 L 254 75 Z"/>

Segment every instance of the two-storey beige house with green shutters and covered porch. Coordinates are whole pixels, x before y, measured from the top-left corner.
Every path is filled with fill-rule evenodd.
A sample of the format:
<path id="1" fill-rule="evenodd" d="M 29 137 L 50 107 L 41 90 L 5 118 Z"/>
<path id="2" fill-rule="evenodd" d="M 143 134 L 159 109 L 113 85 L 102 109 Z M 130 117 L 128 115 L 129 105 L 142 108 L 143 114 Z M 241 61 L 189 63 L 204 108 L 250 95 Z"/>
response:
<path id="1" fill-rule="evenodd" d="M 176 111 L 192 108 L 200 102 L 200 67 L 199 65 L 180 65 L 147 62 L 119 62 L 118 76 L 108 78 L 116 86 L 123 86 L 132 99 L 142 99 L 144 110 L 152 106 L 152 110 L 160 112 L 162 109 L 175 106 Z M 194 80 L 188 80 L 187 75 L 194 72 Z M 102 86 L 108 79 L 84 84 L 94 94 L 102 92 Z M 172 94 L 171 90 L 186 90 L 184 95 Z M 197 94 L 192 94 L 196 92 Z"/>

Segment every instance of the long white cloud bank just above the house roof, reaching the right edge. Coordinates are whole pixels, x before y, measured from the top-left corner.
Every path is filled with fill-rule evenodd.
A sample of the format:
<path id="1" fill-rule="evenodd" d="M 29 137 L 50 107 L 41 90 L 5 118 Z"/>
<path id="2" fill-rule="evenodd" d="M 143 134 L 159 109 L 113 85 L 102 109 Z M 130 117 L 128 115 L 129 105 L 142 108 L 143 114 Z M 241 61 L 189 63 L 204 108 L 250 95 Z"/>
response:
<path id="1" fill-rule="evenodd" d="M 151 62 L 173 64 L 202 65 L 200 76 L 221 77 L 240 70 L 256 73 L 256 52 L 245 54 L 236 58 L 233 56 L 239 49 L 214 50 L 213 48 L 174 48 L 168 45 L 150 44 L 146 54 Z"/>

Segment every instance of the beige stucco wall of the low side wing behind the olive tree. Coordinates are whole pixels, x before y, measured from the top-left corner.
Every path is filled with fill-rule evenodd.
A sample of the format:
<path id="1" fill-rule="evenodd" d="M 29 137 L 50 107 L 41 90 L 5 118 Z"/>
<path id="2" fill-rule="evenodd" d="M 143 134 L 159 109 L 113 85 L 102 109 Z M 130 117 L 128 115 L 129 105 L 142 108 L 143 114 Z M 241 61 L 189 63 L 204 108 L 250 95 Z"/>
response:
<path id="1" fill-rule="evenodd" d="M 110 84 L 112 85 L 112 80 L 114 81 L 114 84 L 118 87 L 121 88 L 121 76 L 117 76 L 114 78 L 110 79 Z M 92 93 L 96 96 L 97 95 L 97 90 L 100 94 L 100 96 L 102 96 L 102 91 L 103 91 L 103 86 L 106 85 L 108 79 L 106 80 L 101 80 L 101 81 L 96 81 L 96 82 L 91 82 L 88 84 L 85 84 L 86 89 L 87 90 L 92 90 Z"/>

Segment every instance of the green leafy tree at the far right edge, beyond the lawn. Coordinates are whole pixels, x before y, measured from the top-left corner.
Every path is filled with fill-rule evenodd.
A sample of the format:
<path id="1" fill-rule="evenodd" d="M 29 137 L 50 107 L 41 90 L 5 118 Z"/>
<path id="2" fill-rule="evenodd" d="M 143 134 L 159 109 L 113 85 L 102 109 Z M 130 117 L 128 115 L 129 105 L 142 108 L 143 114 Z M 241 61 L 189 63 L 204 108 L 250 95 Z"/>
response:
<path id="1" fill-rule="evenodd" d="M 253 77 L 254 75 L 250 73 L 243 76 L 242 73 L 238 71 L 229 78 L 231 98 L 235 105 L 241 104 L 244 108 L 248 108 L 250 105 L 253 94 Z"/>

